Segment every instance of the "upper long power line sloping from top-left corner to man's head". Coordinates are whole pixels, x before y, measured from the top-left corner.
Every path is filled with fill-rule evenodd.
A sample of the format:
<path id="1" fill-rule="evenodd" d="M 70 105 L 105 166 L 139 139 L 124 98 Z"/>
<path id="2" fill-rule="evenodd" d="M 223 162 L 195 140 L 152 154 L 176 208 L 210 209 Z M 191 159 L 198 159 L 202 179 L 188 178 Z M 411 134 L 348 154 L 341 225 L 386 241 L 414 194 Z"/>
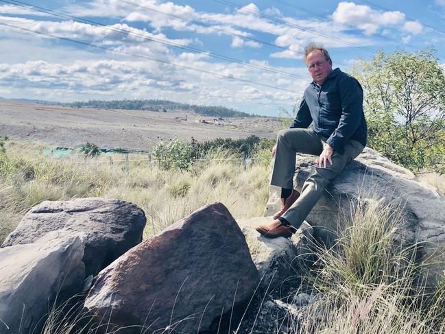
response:
<path id="1" fill-rule="evenodd" d="M 10 3 L 12 5 L 16 5 L 16 6 L 19 6 L 19 7 L 29 8 L 29 9 L 35 10 L 37 12 L 44 12 L 46 14 L 57 16 L 57 17 L 60 17 L 60 18 L 73 19 L 74 21 L 77 21 L 77 22 L 80 22 L 80 23 L 88 23 L 88 24 L 91 24 L 91 25 L 95 25 L 97 27 L 101 27 L 103 29 L 111 30 L 112 32 L 117 32 L 119 34 L 134 35 L 134 36 L 141 37 L 141 38 L 143 38 L 145 40 L 150 40 L 150 41 L 155 42 L 155 43 L 168 45 L 170 47 L 176 47 L 178 49 L 183 49 L 183 50 L 191 51 L 191 52 L 194 52 L 194 53 L 204 54 L 206 56 L 211 56 L 212 58 L 217 58 L 217 59 L 220 59 L 220 60 L 226 60 L 226 61 L 229 61 L 229 62 L 236 62 L 238 64 L 243 64 L 245 66 L 253 67 L 255 69 L 262 69 L 264 71 L 269 71 L 269 72 L 280 74 L 280 75 L 286 75 L 286 76 L 289 76 L 289 77 L 296 77 L 298 79 L 306 80 L 306 77 L 302 77 L 300 75 L 296 75 L 296 74 L 285 72 L 285 71 L 280 71 L 278 69 L 273 69 L 272 67 L 266 67 L 266 66 L 263 66 L 261 64 L 252 64 L 250 62 L 245 62 L 245 61 L 239 60 L 237 58 L 232 58 L 232 57 L 220 55 L 219 53 L 213 53 L 213 52 L 210 52 L 210 51 L 204 51 L 202 49 L 197 49 L 195 47 L 189 47 L 189 46 L 185 46 L 185 45 L 180 45 L 178 43 L 174 43 L 174 42 L 167 41 L 167 40 L 162 40 L 162 39 L 156 38 L 156 37 L 145 36 L 144 34 L 139 34 L 139 33 L 136 33 L 136 32 L 132 32 L 132 31 L 127 30 L 127 29 L 121 29 L 121 28 L 117 28 L 117 27 L 110 27 L 108 25 L 104 25 L 103 23 L 98 23 L 96 21 L 92 21 L 92 20 L 88 20 L 88 19 L 82 19 L 82 18 L 77 17 L 77 16 L 72 16 L 72 15 L 69 15 L 69 14 L 56 12 L 54 10 L 49 10 L 47 8 L 43 8 L 43 7 L 40 7 L 40 6 L 31 5 L 29 3 L 25 3 L 25 2 L 22 2 L 22 1 L 16 1 L 16 0 L 11 0 L 11 1 L 0 0 L 0 1 L 2 1 L 4 3 Z"/>

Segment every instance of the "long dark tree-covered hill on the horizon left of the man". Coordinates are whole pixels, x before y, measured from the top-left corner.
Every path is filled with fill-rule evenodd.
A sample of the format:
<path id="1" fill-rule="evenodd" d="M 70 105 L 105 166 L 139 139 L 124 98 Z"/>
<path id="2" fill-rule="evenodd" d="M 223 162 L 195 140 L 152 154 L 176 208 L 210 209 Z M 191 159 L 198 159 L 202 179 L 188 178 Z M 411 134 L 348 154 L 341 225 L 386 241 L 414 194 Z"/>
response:
<path id="1" fill-rule="evenodd" d="M 255 115 L 241 112 L 223 106 L 198 106 L 196 104 L 182 104 L 164 99 L 121 99 L 121 100 L 93 100 L 88 102 L 73 102 L 62 104 L 73 108 L 101 108 L 101 109 L 125 109 L 125 110 L 149 110 L 165 111 L 184 110 L 195 112 L 199 115 L 211 117 L 254 117 Z"/>

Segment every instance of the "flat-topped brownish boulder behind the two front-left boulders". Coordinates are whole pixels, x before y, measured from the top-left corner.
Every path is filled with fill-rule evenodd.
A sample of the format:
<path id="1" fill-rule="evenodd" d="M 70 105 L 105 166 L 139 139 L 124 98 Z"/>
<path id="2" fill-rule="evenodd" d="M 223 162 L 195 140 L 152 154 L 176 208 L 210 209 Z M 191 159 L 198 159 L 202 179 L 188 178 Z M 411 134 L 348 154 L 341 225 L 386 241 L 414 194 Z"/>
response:
<path id="1" fill-rule="evenodd" d="M 84 241 L 86 275 L 95 276 L 142 241 L 145 214 L 112 198 L 45 201 L 34 206 L 1 247 L 33 243 L 50 231 L 77 232 Z"/>

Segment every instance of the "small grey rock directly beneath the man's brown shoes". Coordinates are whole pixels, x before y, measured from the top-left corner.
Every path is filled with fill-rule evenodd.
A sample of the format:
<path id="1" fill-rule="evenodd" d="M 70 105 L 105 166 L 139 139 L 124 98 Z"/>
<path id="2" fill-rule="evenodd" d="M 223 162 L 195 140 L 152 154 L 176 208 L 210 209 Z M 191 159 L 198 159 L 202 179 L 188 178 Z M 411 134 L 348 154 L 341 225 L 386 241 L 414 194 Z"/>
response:
<path id="1" fill-rule="evenodd" d="M 260 224 L 273 222 L 272 217 L 254 217 L 238 219 L 237 222 L 245 235 L 252 261 L 256 265 L 263 289 L 272 289 L 290 275 L 296 274 L 300 261 L 308 259 L 312 254 L 311 226 L 304 222 L 291 238 L 268 239 L 261 236 L 254 228 Z"/>

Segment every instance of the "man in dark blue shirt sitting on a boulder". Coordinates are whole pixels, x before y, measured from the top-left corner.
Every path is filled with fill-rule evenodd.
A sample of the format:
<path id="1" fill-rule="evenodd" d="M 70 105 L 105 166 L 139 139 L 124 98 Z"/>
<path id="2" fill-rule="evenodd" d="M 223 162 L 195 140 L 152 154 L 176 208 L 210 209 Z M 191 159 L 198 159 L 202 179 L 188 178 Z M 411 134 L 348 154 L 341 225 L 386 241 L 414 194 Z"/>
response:
<path id="1" fill-rule="evenodd" d="M 281 187 L 281 208 L 274 222 L 256 228 L 269 238 L 291 237 L 324 189 L 366 145 L 363 89 L 340 69 L 332 69 L 328 51 L 311 44 L 304 62 L 313 82 L 304 91 L 296 118 L 288 130 L 278 132 L 271 184 Z M 308 126 L 312 123 L 311 128 Z M 301 193 L 293 189 L 296 152 L 318 156 L 315 171 Z"/>

